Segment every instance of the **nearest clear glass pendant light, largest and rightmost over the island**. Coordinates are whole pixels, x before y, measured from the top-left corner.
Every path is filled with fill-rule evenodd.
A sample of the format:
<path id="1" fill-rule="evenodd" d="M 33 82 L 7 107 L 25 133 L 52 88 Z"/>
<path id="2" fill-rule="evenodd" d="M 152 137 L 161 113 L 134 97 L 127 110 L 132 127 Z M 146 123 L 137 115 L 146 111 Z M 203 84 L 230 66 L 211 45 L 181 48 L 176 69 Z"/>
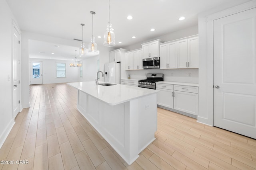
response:
<path id="1" fill-rule="evenodd" d="M 103 45 L 111 47 L 116 45 L 115 43 L 115 33 L 113 32 L 112 24 L 109 21 L 110 18 L 110 0 L 108 0 L 108 24 L 107 31 L 104 33 L 104 42 Z"/>

